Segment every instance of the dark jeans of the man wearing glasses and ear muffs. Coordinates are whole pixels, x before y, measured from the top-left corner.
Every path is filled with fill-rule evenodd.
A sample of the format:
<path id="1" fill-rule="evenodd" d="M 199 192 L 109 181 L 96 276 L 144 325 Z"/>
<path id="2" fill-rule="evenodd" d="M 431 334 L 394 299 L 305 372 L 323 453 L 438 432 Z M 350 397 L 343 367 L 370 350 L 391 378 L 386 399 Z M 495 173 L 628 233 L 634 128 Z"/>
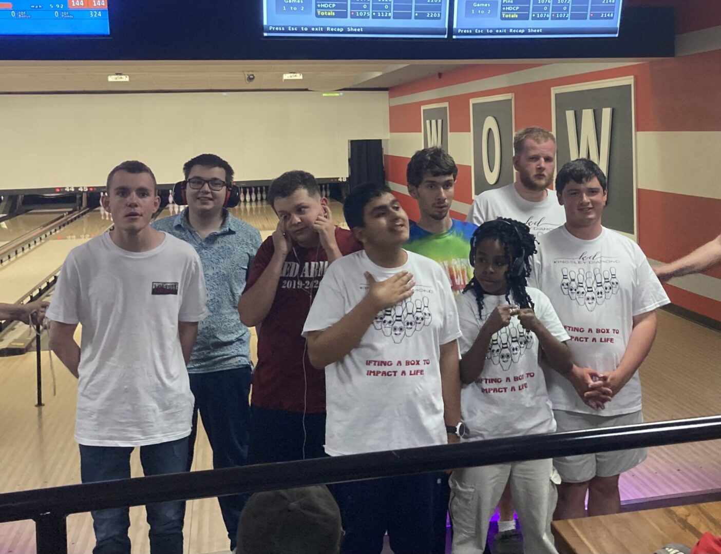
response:
<path id="1" fill-rule="evenodd" d="M 248 396 L 252 370 L 250 366 L 210 373 L 190 373 L 190 390 L 195 396 L 193 431 L 187 452 L 187 470 L 193 465 L 198 412 L 213 450 L 213 468 L 235 468 L 245 465 L 250 439 L 250 406 Z M 240 512 L 248 495 L 221 496 L 218 504 L 228 531 L 230 549 L 238 537 Z"/>

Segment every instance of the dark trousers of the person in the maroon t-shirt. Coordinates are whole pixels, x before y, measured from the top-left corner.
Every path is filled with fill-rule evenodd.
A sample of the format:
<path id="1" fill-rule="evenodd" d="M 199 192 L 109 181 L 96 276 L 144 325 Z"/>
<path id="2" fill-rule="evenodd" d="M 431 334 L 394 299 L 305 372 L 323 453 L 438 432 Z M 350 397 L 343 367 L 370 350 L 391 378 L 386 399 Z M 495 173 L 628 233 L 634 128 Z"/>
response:
<path id="1" fill-rule="evenodd" d="M 325 457 L 325 414 L 251 406 L 249 464 Z M 305 427 L 305 430 L 304 430 Z"/>

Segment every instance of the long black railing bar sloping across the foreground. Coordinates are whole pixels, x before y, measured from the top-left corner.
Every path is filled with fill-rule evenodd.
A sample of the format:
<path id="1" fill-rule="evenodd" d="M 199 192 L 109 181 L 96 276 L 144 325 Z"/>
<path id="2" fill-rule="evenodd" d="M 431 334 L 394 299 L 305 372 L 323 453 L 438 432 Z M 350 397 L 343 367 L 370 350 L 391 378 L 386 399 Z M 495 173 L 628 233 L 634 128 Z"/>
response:
<path id="1" fill-rule="evenodd" d="M 721 416 L 68 485 L 1 494 L 0 522 L 713 439 Z"/>

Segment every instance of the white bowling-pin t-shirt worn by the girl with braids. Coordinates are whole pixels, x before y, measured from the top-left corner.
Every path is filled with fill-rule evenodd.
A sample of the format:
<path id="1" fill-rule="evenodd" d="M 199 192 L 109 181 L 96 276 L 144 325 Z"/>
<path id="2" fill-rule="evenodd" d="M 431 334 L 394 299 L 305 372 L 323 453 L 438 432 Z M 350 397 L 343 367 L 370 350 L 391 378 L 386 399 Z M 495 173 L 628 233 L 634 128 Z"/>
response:
<path id="1" fill-rule="evenodd" d="M 528 287 L 526 291 L 539 321 L 554 338 L 567 341 L 569 336 L 548 297 L 538 289 Z M 484 295 L 480 317 L 474 290 L 458 295 L 456 303 L 463 333 L 459 339 L 463 357 L 492 311 L 508 304 L 508 300 L 505 295 Z M 531 331 L 523 329 L 516 316 L 493 335 L 483 371 L 475 383 L 461 388 L 461 413 L 468 426 L 468 440 L 555 432 L 551 400 L 539 365 L 539 341 Z"/>

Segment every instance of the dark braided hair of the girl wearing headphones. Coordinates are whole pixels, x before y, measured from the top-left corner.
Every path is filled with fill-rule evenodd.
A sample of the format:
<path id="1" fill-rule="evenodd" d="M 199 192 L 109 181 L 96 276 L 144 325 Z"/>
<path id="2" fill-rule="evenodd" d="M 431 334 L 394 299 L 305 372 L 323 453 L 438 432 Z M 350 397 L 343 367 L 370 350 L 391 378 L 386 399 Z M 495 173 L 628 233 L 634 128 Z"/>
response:
<path id="1" fill-rule="evenodd" d="M 513 300 L 516 300 L 520 308 L 534 308 L 534 303 L 531 297 L 528 296 L 528 292 L 526 292 L 528 286 L 526 277 L 531 274 L 531 256 L 536 254 L 536 238 L 531 234 L 528 225 L 508 218 L 497 218 L 480 225 L 471 237 L 470 262 L 474 267 L 476 246 L 486 238 L 500 241 L 503 244 L 505 257 L 508 259 L 508 269 L 504 275 L 506 282 L 508 282 L 505 300 L 510 304 L 510 295 L 513 293 Z M 476 293 L 478 317 L 482 318 L 484 292 L 475 275 L 466 285 L 463 292 L 469 290 Z"/>

